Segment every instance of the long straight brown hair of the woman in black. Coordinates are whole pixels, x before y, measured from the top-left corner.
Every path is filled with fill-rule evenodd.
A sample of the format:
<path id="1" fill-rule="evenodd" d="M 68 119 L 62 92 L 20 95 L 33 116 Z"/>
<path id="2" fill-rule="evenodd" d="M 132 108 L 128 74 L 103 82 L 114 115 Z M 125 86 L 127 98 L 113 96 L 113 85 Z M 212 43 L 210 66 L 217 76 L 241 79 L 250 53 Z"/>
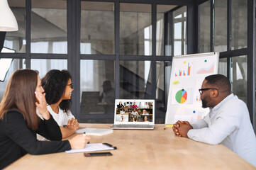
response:
<path id="1" fill-rule="evenodd" d="M 38 73 L 31 69 L 19 69 L 9 79 L 4 97 L 0 103 L 0 119 L 7 111 L 16 110 L 23 114 L 28 128 L 36 130 L 40 118 L 35 113 L 35 88 L 38 84 Z"/>

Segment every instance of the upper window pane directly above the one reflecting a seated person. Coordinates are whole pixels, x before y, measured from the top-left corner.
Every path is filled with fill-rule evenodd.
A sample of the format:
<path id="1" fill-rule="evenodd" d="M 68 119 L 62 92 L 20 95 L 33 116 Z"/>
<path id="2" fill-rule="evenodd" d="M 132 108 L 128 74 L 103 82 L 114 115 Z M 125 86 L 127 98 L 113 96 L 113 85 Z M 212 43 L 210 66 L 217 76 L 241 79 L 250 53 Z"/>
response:
<path id="1" fill-rule="evenodd" d="M 81 54 L 113 55 L 114 21 L 114 3 L 82 1 Z"/>

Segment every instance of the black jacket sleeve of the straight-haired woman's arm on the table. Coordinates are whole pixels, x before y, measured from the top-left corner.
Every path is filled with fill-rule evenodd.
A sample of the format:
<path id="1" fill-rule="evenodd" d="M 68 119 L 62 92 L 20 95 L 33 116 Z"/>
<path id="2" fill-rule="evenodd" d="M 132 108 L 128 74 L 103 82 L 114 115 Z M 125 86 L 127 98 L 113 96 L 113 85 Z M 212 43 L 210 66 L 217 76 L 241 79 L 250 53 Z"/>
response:
<path id="1" fill-rule="evenodd" d="M 45 125 L 48 125 L 48 123 L 45 123 Z M 5 132 L 11 140 L 25 149 L 29 154 L 50 154 L 71 149 L 67 140 L 38 141 L 33 132 L 28 129 L 23 115 L 16 111 L 6 113 Z"/>

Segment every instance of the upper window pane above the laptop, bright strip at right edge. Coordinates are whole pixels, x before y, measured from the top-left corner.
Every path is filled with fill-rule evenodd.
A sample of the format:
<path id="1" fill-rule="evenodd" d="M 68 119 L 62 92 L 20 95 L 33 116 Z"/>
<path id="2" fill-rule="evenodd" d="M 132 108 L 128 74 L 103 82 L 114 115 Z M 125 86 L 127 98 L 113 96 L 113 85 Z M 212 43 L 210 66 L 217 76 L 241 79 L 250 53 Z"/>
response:
<path id="1" fill-rule="evenodd" d="M 150 4 L 120 4 L 120 55 L 152 55 Z"/>

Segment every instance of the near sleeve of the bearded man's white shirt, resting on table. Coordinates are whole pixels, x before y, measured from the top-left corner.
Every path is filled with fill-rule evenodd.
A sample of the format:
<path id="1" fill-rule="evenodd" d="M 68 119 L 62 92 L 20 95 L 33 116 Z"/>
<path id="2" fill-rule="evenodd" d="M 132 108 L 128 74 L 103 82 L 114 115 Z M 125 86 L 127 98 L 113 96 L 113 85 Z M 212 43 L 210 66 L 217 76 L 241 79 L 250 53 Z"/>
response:
<path id="1" fill-rule="evenodd" d="M 208 127 L 189 130 L 188 137 L 199 142 L 218 145 L 238 127 L 239 121 L 235 114 L 225 111 L 218 115 L 214 123 L 209 123 Z"/>

